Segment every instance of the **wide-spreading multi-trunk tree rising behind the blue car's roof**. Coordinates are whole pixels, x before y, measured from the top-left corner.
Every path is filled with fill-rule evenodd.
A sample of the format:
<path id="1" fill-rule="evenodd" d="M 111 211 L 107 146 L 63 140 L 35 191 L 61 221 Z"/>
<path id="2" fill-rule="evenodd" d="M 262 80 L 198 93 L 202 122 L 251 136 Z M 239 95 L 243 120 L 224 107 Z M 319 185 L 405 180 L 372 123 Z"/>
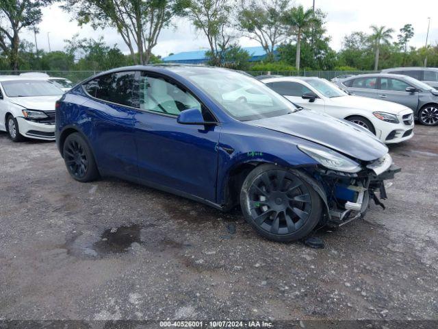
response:
<path id="1" fill-rule="evenodd" d="M 147 64 L 163 27 L 180 8 L 179 0 L 66 0 L 79 25 L 115 27 L 131 52 L 134 64 Z"/>

